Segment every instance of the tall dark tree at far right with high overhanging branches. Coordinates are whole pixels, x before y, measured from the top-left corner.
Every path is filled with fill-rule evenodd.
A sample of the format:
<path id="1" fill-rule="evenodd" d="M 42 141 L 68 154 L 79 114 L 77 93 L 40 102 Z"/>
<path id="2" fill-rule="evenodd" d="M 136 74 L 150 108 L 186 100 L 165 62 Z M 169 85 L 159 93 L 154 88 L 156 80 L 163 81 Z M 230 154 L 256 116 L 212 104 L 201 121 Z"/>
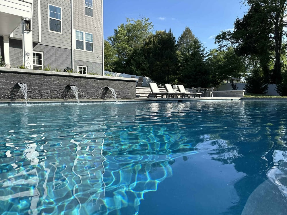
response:
<path id="1" fill-rule="evenodd" d="M 221 32 L 216 43 L 228 41 L 241 55 L 260 58 L 265 79 L 281 79 L 281 49 L 287 0 L 245 0 L 250 6 L 242 19 L 236 19 L 234 32 Z M 273 68 L 269 63 L 275 59 Z"/>

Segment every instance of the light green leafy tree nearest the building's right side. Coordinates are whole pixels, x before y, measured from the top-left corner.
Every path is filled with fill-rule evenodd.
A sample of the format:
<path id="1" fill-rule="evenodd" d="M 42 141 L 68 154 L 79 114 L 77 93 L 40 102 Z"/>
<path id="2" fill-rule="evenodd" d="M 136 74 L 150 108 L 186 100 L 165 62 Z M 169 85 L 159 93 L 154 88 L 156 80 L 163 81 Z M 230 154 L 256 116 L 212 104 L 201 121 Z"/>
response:
<path id="1" fill-rule="evenodd" d="M 116 72 L 125 72 L 125 62 L 133 51 L 142 47 L 148 36 L 152 35 L 152 22 L 146 17 L 139 18 L 137 20 L 127 18 L 127 23 L 119 25 L 115 29 L 115 34 L 108 37 L 117 56 L 117 60 L 114 62 Z"/>

